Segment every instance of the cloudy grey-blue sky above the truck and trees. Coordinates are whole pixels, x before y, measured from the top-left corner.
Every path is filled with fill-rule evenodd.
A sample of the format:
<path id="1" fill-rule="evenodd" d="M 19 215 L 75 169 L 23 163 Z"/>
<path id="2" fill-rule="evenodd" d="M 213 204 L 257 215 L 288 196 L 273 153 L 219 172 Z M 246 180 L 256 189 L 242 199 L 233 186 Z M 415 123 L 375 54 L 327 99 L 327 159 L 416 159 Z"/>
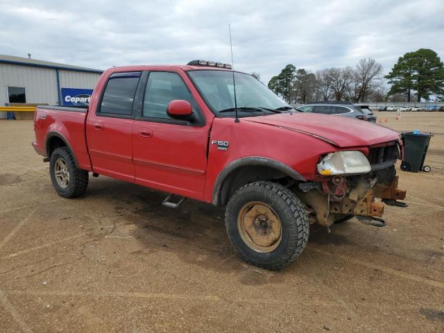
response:
<path id="1" fill-rule="evenodd" d="M 0 0 L 0 53 L 106 69 L 204 59 L 268 83 L 287 64 L 316 71 L 432 49 L 444 60 L 444 0 Z"/>

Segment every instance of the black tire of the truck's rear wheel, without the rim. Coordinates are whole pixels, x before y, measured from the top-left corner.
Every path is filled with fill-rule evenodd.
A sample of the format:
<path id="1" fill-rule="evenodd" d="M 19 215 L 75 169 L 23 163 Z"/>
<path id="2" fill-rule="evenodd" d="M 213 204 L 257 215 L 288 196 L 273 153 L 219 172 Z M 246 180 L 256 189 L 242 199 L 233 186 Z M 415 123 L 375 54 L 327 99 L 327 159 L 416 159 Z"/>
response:
<path id="1" fill-rule="evenodd" d="M 66 188 L 60 187 L 56 180 L 55 164 L 59 159 L 65 161 L 69 172 L 69 182 Z M 59 147 L 54 149 L 49 161 L 49 173 L 51 175 L 51 182 L 54 189 L 63 198 L 76 198 L 85 193 L 88 187 L 88 171 L 78 169 L 74 157 L 67 147 Z"/>

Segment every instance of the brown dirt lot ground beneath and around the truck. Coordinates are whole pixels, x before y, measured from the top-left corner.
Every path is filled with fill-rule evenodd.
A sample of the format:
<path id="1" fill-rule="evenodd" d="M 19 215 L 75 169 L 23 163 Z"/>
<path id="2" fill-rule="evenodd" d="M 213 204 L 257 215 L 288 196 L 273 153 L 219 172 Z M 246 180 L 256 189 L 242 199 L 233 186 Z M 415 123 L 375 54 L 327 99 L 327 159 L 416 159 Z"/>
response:
<path id="1" fill-rule="evenodd" d="M 379 115 L 435 133 L 432 172 L 401 172 L 409 207 L 386 228 L 311 228 L 272 272 L 234 254 L 210 205 L 105 177 L 60 198 L 32 121 L 0 121 L 0 331 L 444 332 L 444 112 Z"/>

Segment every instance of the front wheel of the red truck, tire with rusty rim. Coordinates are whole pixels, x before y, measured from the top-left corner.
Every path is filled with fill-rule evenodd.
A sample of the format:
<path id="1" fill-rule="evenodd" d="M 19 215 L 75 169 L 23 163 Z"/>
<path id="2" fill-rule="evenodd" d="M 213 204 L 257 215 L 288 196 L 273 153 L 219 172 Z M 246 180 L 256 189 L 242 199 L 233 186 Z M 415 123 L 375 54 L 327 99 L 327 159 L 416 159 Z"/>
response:
<path id="1" fill-rule="evenodd" d="M 225 212 L 234 249 L 250 264 L 279 269 L 307 245 L 309 220 L 292 191 L 273 182 L 252 182 L 238 189 Z"/>

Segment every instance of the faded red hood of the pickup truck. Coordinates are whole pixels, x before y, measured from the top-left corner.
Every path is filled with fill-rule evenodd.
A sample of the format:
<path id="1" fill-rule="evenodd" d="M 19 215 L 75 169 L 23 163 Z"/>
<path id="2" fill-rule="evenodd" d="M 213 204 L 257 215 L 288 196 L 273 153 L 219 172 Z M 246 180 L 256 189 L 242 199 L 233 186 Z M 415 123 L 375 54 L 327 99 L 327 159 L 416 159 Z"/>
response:
<path id="1" fill-rule="evenodd" d="M 328 114 L 298 112 L 244 119 L 317 137 L 341 148 L 372 146 L 400 138 L 400 135 L 394 130 L 370 123 L 370 121 Z"/>

